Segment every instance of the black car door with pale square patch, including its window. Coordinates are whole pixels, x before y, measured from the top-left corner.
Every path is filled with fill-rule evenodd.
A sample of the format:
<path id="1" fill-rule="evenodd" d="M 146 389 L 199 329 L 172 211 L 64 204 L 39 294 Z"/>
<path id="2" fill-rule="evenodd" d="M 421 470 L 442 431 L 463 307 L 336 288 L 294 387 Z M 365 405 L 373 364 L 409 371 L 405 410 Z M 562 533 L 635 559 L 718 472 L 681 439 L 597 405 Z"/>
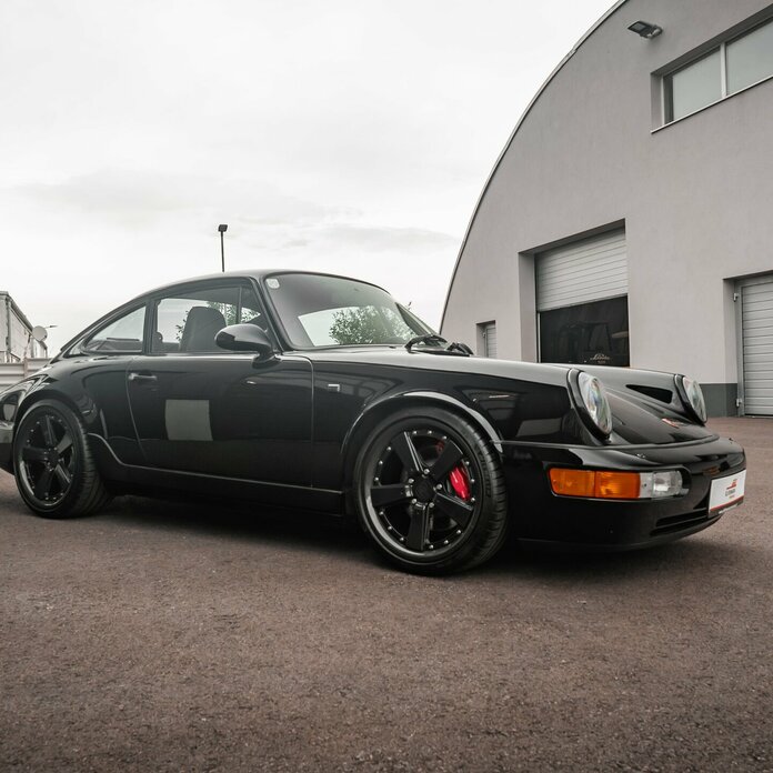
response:
<path id="1" fill-rule="evenodd" d="M 145 464 L 187 473 L 309 485 L 312 378 L 305 358 L 260 361 L 214 342 L 227 324 L 271 337 L 248 280 L 181 285 L 151 300 L 151 348 L 127 374 Z"/>

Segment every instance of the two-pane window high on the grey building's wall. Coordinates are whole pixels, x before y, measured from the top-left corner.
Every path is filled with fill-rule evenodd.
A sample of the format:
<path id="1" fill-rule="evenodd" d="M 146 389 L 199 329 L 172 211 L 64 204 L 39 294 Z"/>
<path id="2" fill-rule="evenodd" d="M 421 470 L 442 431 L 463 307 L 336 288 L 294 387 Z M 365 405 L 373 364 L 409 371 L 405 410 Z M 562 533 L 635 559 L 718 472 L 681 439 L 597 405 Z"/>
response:
<path id="1" fill-rule="evenodd" d="M 663 77 L 665 123 L 773 78 L 773 21 Z"/>

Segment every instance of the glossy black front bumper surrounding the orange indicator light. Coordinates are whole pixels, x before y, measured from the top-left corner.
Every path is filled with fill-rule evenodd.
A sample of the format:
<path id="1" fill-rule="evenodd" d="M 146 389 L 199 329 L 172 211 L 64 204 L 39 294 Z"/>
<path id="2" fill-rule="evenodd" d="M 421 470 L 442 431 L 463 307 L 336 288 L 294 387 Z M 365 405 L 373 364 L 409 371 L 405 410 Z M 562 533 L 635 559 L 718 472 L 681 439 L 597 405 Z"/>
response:
<path id="1" fill-rule="evenodd" d="M 711 482 L 744 470 L 743 449 L 732 440 L 616 448 L 502 443 L 509 509 L 519 539 L 602 550 L 670 542 L 720 520 L 709 512 Z M 595 500 L 556 496 L 551 466 L 646 472 L 680 470 L 685 494 L 662 500 Z"/>

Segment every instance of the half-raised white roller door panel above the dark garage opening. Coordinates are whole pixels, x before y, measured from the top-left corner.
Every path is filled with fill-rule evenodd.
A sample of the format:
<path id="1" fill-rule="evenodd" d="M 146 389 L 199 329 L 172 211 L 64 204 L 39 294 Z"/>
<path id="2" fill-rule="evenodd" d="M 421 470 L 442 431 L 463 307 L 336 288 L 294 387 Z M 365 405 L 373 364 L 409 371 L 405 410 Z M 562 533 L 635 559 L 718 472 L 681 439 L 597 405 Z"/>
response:
<path id="1" fill-rule="evenodd" d="M 538 255 L 538 311 L 626 294 L 628 255 L 623 230 Z"/>

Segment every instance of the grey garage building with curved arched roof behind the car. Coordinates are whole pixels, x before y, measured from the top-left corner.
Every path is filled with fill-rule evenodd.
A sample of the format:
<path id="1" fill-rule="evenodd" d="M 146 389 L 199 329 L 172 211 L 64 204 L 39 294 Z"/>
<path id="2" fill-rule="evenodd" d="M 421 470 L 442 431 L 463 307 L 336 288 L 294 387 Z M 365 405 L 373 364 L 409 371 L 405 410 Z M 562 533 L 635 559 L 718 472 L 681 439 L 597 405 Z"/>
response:
<path id="1" fill-rule="evenodd" d="M 773 4 L 622 0 L 532 100 L 442 321 L 489 357 L 685 373 L 773 415 Z"/>

